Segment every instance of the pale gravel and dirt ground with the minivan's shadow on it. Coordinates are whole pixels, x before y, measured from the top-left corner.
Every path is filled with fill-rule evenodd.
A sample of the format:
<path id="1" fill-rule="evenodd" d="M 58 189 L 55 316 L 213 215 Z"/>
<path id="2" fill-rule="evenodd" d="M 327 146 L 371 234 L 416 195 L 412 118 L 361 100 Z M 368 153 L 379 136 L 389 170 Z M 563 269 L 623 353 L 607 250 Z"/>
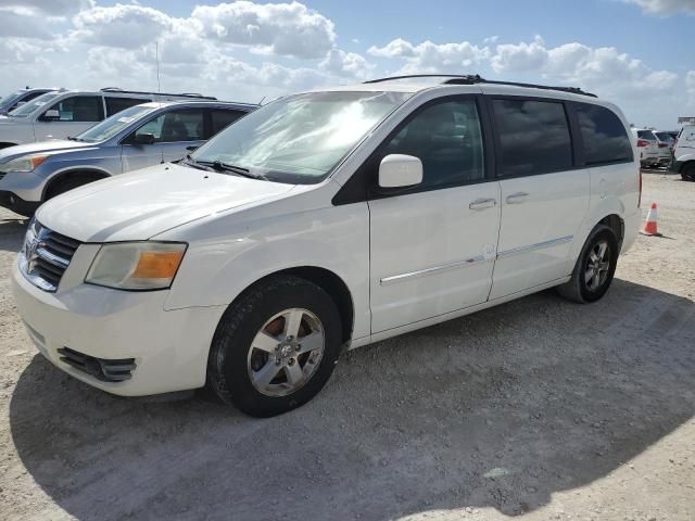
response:
<path id="1" fill-rule="evenodd" d="M 0 519 L 693 520 L 695 183 L 645 176 L 644 201 L 666 237 L 599 303 L 547 291 L 357 350 L 269 420 L 48 364 L 0 213 Z"/>

